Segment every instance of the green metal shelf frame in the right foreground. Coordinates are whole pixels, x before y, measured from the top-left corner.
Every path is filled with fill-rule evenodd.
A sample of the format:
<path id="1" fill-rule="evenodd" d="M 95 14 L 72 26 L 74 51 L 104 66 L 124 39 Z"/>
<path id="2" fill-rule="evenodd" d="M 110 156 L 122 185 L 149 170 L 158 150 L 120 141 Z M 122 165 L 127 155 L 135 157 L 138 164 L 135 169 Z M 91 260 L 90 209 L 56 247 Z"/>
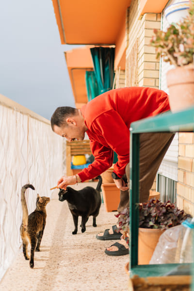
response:
<path id="1" fill-rule="evenodd" d="M 162 276 L 180 264 L 138 265 L 139 136 L 146 132 L 194 132 L 194 107 L 178 113 L 162 113 L 130 125 L 130 276 Z"/>

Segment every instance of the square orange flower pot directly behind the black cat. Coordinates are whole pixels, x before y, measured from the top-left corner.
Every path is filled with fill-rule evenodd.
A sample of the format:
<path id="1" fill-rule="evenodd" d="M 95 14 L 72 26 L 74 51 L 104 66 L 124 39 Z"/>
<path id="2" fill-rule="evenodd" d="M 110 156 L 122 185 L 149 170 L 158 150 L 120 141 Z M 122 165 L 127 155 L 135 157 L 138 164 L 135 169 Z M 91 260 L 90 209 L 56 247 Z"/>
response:
<path id="1" fill-rule="evenodd" d="M 120 190 L 114 183 L 102 184 L 103 201 L 107 212 L 117 210 L 120 202 Z"/>

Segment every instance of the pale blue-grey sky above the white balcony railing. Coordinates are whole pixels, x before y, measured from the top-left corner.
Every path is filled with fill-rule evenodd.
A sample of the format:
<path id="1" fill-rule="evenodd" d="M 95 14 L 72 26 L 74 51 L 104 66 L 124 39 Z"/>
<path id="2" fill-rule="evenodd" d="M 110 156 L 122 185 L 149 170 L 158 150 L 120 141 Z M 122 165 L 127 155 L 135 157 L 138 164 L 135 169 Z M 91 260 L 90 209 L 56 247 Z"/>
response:
<path id="1" fill-rule="evenodd" d="M 51 0 L 0 3 L 0 94 L 50 120 L 75 107 Z"/>

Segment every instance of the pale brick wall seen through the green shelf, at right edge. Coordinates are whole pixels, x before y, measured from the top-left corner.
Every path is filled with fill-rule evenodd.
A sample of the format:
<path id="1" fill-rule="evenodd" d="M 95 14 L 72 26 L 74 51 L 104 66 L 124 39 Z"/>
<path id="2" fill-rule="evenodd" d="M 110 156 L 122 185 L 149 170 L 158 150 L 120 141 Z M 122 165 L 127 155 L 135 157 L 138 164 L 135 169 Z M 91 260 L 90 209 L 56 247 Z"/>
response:
<path id="1" fill-rule="evenodd" d="M 177 205 L 194 215 L 194 133 L 179 133 Z"/>

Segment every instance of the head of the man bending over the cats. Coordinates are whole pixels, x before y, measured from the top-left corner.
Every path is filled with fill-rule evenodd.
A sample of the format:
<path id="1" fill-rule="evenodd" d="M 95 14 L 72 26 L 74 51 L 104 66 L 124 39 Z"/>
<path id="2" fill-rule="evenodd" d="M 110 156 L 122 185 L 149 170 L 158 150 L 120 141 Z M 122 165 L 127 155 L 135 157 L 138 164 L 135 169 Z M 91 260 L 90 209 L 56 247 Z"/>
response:
<path id="1" fill-rule="evenodd" d="M 69 142 L 83 140 L 87 130 L 81 112 L 73 107 L 58 107 L 51 117 L 52 130 Z"/>

